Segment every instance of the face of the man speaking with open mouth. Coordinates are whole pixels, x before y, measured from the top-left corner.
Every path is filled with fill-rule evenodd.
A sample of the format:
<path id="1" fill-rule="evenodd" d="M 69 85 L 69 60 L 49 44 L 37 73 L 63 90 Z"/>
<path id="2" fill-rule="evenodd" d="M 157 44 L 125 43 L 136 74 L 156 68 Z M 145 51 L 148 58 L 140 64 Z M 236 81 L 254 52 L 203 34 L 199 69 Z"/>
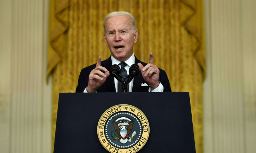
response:
<path id="1" fill-rule="evenodd" d="M 105 42 L 112 56 L 121 62 L 129 59 L 133 53 L 133 44 L 138 38 L 138 31 L 132 31 L 130 17 L 110 17 L 106 20 L 105 31 Z"/>

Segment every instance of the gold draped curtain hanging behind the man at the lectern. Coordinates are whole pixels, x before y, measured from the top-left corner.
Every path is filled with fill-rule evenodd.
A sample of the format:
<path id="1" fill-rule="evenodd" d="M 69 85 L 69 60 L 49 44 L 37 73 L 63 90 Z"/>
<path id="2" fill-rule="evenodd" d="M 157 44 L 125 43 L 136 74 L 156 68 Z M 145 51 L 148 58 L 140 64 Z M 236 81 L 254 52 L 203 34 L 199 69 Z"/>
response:
<path id="1" fill-rule="evenodd" d="M 75 92 L 83 67 L 110 56 L 103 20 L 128 11 L 139 31 L 134 53 L 166 71 L 172 91 L 189 91 L 196 152 L 202 153 L 204 79 L 203 0 L 55 0 L 50 1 L 48 74 L 53 74 L 52 140 L 59 93 Z"/>

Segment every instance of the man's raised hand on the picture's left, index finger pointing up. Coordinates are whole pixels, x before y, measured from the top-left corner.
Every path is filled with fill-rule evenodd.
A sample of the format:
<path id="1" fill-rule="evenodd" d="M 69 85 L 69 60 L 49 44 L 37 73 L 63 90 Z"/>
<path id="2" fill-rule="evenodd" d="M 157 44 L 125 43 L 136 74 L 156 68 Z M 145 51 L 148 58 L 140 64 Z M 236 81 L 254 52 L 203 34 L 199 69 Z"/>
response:
<path id="1" fill-rule="evenodd" d="M 108 76 L 109 71 L 105 67 L 101 66 L 101 56 L 99 56 L 96 67 L 90 72 L 88 86 L 86 87 L 87 92 L 95 93 L 96 90 L 103 85 Z"/>

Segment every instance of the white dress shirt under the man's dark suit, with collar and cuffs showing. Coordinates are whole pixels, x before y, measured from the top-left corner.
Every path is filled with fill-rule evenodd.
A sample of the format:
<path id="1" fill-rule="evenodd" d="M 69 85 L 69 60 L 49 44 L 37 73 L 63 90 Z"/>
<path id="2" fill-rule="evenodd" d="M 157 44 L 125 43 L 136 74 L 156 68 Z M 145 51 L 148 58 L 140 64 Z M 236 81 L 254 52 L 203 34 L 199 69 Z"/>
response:
<path id="1" fill-rule="evenodd" d="M 117 59 L 115 59 L 112 55 L 111 55 L 111 60 L 112 60 L 112 65 L 113 65 L 113 64 L 117 64 L 117 65 L 118 65 L 118 64 L 120 63 L 120 61 L 117 60 Z M 135 56 L 134 56 L 134 53 L 132 54 L 132 56 L 131 56 L 129 59 L 127 59 L 127 60 L 125 61 L 125 63 L 126 63 L 127 65 L 126 65 L 124 68 L 125 68 L 125 70 L 127 71 L 127 75 L 129 75 L 129 68 L 132 66 L 132 64 L 135 63 Z M 121 65 L 118 65 L 118 66 L 121 68 Z M 114 78 L 114 84 L 115 84 L 116 92 L 117 92 L 117 91 L 118 91 L 118 90 L 117 90 L 118 81 L 117 81 L 116 78 Z M 129 85 L 129 92 L 132 92 L 133 79 L 132 79 L 131 82 L 129 82 L 128 85 Z M 143 85 L 141 85 L 141 86 L 143 86 Z M 86 88 L 84 89 L 83 92 L 84 92 L 84 93 L 87 93 Z M 162 85 L 162 83 L 160 82 L 159 86 L 158 86 L 156 89 L 154 89 L 154 90 L 152 90 L 151 87 L 149 87 L 148 92 L 163 92 L 163 85 Z"/>

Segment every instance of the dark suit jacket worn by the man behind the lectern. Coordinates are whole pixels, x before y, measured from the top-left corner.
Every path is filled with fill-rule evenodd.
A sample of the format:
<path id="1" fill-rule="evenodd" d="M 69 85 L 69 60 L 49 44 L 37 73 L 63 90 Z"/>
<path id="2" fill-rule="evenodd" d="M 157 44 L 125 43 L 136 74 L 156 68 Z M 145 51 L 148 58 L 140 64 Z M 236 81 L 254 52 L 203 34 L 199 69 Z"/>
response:
<path id="1" fill-rule="evenodd" d="M 147 65 L 147 63 L 141 62 L 135 56 L 135 64 L 137 65 L 138 63 L 142 63 L 143 66 Z M 109 70 L 109 68 L 112 66 L 111 58 L 103 60 L 101 62 L 101 66 Z M 91 70 L 93 70 L 95 67 L 96 64 L 93 64 L 81 70 L 78 78 L 78 86 L 76 87 L 76 93 L 82 93 L 84 89 L 87 87 L 89 74 Z M 163 85 L 163 91 L 172 91 L 166 72 L 161 68 L 159 68 L 159 70 L 159 81 Z M 142 74 L 139 71 L 139 74 L 135 76 L 133 79 L 132 92 L 148 92 L 149 86 L 141 86 L 142 83 L 146 82 L 144 81 Z M 114 77 L 109 75 L 108 78 L 106 78 L 106 82 L 98 88 L 97 92 L 116 92 L 116 88 L 114 85 Z"/>

